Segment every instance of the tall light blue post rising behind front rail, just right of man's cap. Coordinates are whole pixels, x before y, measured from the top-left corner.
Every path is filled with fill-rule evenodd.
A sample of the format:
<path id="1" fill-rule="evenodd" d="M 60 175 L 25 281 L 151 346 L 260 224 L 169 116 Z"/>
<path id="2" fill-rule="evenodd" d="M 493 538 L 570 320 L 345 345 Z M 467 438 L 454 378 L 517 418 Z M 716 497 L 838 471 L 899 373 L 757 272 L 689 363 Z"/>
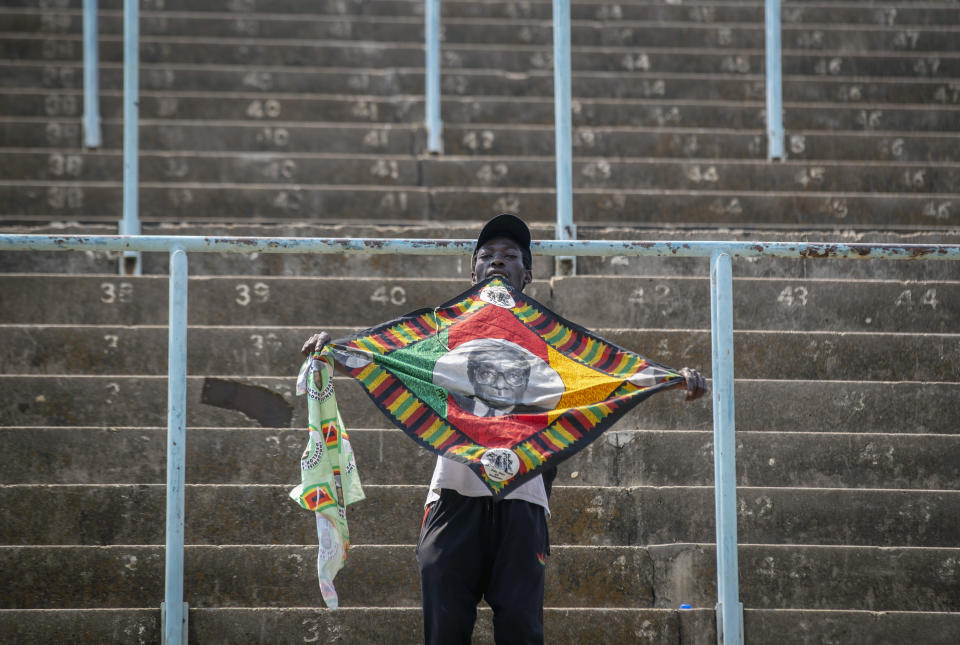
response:
<path id="1" fill-rule="evenodd" d="M 570 99 L 570 0 L 553 0 L 553 115 L 557 165 L 556 239 L 577 239 L 573 223 L 573 133 Z M 556 259 L 557 275 L 576 274 L 576 257 Z"/>

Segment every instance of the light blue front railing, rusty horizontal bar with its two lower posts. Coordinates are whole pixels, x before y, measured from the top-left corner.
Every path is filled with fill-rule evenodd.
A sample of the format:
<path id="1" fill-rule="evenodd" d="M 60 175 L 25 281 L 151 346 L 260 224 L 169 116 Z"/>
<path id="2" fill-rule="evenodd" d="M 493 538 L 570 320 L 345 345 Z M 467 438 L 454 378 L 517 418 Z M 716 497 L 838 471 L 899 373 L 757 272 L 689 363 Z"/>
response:
<path id="1" fill-rule="evenodd" d="M 167 521 L 163 642 L 186 642 L 183 602 L 184 468 L 187 380 L 187 253 L 368 253 L 460 255 L 473 240 L 237 238 L 195 236 L 0 235 L 0 251 L 137 251 L 170 254 L 167 397 Z M 960 245 L 873 245 L 778 242 L 543 241 L 534 253 L 552 256 L 710 258 L 714 477 L 717 527 L 717 636 L 742 645 L 743 605 L 737 562 L 736 441 L 733 376 L 734 257 L 960 260 Z"/>

